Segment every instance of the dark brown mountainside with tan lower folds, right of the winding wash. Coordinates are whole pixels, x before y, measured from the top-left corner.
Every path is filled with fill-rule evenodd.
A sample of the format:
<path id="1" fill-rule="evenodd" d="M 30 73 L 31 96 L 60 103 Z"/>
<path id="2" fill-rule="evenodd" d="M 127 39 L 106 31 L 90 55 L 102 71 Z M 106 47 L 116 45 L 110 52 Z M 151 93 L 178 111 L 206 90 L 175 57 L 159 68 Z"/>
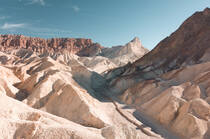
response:
<path id="1" fill-rule="evenodd" d="M 181 138 L 210 138 L 210 9 L 134 63 L 105 74 L 122 102 Z"/>

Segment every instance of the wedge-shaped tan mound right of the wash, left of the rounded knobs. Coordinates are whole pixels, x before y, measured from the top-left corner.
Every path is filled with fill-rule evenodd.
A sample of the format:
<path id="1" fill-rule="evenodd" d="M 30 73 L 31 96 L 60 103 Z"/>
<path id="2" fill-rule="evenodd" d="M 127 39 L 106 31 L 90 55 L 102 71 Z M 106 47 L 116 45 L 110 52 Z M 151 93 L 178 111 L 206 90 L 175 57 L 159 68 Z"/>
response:
<path id="1" fill-rule="evenodd" d="M 181 99 L 182 93 L 183 88 L 171 87 L 143 104 L 142 108 L 161 124 L 169 125 L 176 118 L 179 108 L 184 103 L 184 100 Z"/>

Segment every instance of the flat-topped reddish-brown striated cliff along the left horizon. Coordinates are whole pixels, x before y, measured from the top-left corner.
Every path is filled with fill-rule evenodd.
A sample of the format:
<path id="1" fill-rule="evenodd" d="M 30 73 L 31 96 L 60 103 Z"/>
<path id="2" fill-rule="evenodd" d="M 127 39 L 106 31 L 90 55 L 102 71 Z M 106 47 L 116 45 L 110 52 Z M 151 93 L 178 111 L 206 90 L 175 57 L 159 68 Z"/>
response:
<path id="1" fill-rule="evenodd" d="M 28 49 L 38 53 L 63 53 L 68 51 L 80 56 L 95 55 L 102 46 L 91 39 L 52 38 L 42 39 L 23 35 L 0 35 L 0 51 Z M 85 53 L 84 53 L 85 51 Z"/>

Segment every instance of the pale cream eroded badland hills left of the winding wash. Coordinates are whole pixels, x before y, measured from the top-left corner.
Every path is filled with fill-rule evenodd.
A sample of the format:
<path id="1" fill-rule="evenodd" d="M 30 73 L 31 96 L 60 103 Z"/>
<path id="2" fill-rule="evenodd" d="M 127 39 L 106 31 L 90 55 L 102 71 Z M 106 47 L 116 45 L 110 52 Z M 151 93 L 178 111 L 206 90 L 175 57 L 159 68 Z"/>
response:
<path id="1" fill-rule="evenodd" d="M 55 60 L 24 49 L 0 56 L 5 57 L 0 64 L 1 137 L 161 138 L 148 128 L 136 130 L 103 97 L 105 79 L 78 56 L 65 53 Z"/>

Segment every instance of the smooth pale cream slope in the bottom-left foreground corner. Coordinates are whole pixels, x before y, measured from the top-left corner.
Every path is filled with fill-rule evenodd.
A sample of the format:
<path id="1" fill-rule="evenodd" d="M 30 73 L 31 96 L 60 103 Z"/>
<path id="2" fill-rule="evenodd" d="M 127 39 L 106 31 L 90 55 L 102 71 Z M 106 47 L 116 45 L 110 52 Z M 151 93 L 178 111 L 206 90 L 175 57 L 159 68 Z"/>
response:
<path id="1" fill-rule="evenodd" d="M 2 138 L 103 138 L 97 129 L 32 109 L 0 93 Z"/>

